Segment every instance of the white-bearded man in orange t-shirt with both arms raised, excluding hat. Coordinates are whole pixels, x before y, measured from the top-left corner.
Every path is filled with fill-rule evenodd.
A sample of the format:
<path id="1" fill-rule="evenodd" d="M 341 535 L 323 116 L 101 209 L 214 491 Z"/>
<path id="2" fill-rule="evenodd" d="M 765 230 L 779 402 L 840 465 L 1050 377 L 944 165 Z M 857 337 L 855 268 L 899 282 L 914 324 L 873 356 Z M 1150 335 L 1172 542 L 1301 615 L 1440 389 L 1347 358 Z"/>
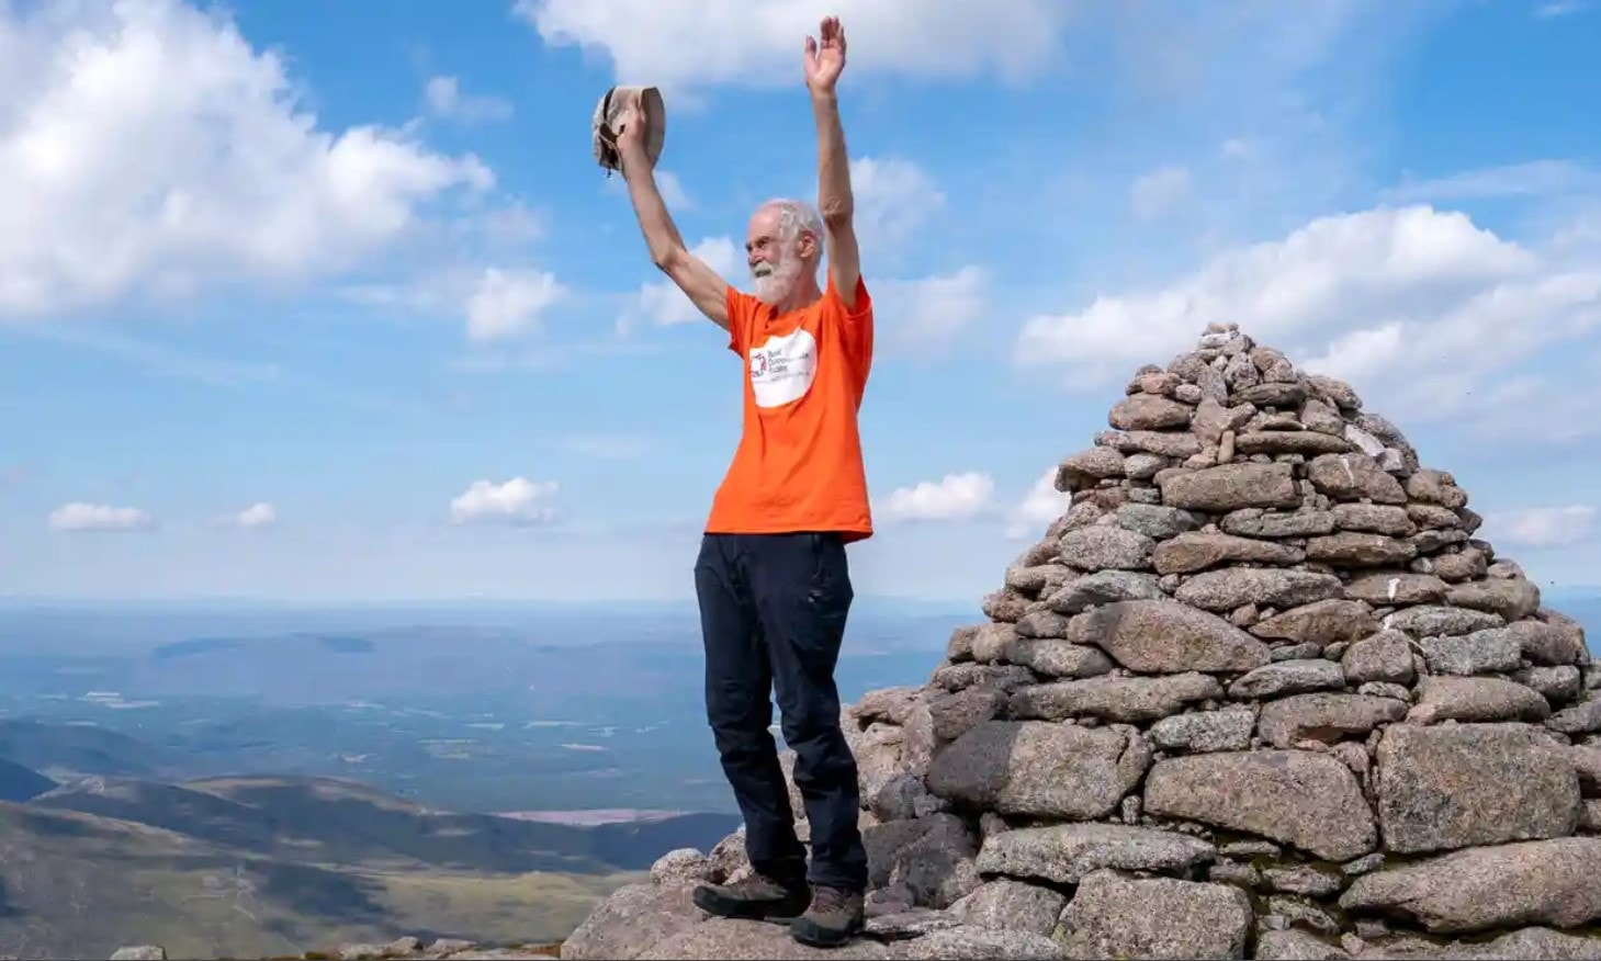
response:
<path id="1" fill-rule="evenodd" d="M 756 210 L 744 243 L 756 296 L 685 250 L 656 191 L 637 103 L 620 120 L 618 154 L 652 261 L 728 332 L 728 349 L 746 364 L 740 445 L 712 500 L 695 589 L 706 716 L 744 815 L 754 875 L 701 886 L 695 903 L 724 916 L 788 919 L 796 940 L 834 947 L 860 931 L 868 879 L 834 663 L 853 597 L 845 545 L 873 533 L 857 431 L 873 364 L 873 301 L 834 96 L 845 66 L 837 18 L 823 21 L 821 40 L 807 37 L 804 64 L 821 213 L 796 200 Z M 768 734 L 773 689 L 810 822 L 810 870 Z"/>

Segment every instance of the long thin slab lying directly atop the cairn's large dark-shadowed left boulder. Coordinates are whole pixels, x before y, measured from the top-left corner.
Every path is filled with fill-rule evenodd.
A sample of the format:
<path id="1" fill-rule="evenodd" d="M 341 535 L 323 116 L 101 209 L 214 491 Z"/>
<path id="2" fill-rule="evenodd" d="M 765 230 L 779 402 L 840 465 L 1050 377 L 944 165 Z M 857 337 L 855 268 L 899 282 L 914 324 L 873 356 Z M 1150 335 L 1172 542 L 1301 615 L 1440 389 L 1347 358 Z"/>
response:
<path id="1" fill-rule="evenodd" d="M 1026 719 L 1101 718 L 1135 724 L 1177 714 L 1185 705 L 1217 697 L 1223 697 L 1223 686 L 1210 674 L 1105 676 L 1023 687 L 1012 695 L 1009 710 L 1013 718 Z"/>

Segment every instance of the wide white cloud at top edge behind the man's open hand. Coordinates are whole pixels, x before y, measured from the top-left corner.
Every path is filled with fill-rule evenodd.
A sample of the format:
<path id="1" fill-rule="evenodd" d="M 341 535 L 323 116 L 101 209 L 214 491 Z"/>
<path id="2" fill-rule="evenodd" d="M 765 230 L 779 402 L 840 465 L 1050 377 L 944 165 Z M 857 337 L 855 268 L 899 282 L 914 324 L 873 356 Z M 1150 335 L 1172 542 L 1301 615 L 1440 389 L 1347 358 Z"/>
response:
<path id="1" fill-rule="evenodd" d="M 1063 0 L 519 0 L 549 46 L 604 50 L 621 83 L 668 91 L 802 82 L 800 53 L 826 14 L 839 16 L 849 75 L 1034 75 L 1058 62 L 1074 13 Z M 716 24 L 716 29 L 708 29 Z"/>

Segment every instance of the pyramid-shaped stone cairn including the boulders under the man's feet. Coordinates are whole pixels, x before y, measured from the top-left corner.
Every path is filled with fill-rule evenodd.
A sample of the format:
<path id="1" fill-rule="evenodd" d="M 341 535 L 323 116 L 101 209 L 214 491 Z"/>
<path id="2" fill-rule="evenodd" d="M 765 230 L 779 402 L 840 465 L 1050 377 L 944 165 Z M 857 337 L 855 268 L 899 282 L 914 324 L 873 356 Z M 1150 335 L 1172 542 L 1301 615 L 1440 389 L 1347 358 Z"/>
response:
<path id="1" fill-rule="evenodd" d="M 1233 325 L 1108 420 L 986 623 L 845 710 L 831 956 L 1601 958 L 1601 671 L 1455 479 Z M 748 870 L 672 852 L 564 956 L 823 956 L 690 907 Z"/>

